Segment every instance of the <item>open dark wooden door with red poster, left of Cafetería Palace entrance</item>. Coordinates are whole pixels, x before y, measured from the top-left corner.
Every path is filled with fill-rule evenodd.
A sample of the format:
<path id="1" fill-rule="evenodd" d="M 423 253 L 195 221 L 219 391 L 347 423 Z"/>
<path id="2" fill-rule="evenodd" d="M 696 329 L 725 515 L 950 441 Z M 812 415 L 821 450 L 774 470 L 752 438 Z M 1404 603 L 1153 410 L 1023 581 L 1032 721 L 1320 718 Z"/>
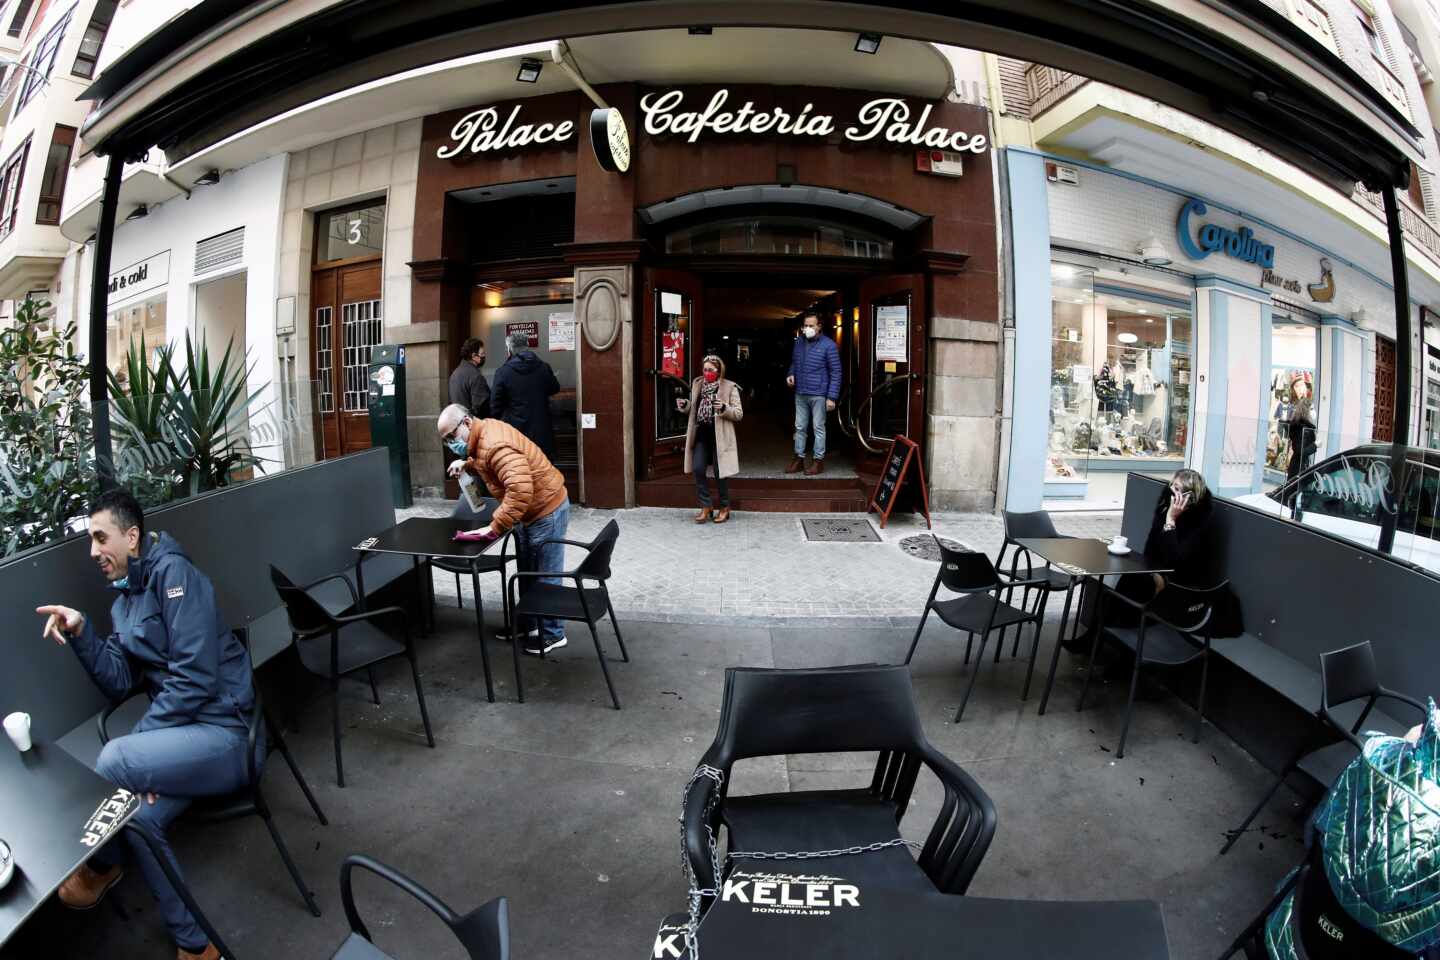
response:
<path id="1" fill-rule="evenodd" d="M 675 400 L 690 397 L 698 376 L 696 351 L 701 330 L 703 288 L 687 271 L 645 271 L 645 320 L 641 324 L 641 479 L 675 476 L 685 465 L 688 415 Z"/>

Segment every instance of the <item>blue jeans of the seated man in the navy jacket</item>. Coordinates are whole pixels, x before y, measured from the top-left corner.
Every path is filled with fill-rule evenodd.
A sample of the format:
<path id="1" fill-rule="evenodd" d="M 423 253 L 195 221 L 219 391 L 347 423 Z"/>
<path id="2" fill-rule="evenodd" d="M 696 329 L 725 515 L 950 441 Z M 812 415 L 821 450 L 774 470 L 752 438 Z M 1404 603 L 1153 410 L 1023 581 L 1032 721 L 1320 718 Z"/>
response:
<path id="1" fill-rule="evenodd" d="M 95 773 L 131 793 L 141 794 L 135 820 L 150 828 L 160 839 L 160 849 L 170 866 L 180 872 L 170 851 L 166 828 L 180 816 L 190 800 L 202 796 L 235 793 L 249 783 L 245 761 L 246 731 L 240 727 L 217 727 L 215 724 L 184 724 L 164 727 L 138 734 L 117 737 L 105 744 L 95 761 Z M 265 738 L 255 741 L 258 760 L 265 760 Z M 259 769 L 259 766 L 256 766 Z M 156 802 L 145 800 L 147 793 L 157 794 Z M 160 902 L 160 913 L 170 928 L 170 937 L 180 947 L 199 953 L 210 941 L 200 925 L 186 910 L 180 894 L 170 887 L 160 862 L 138 836 L 125 832 L 131 858 L 140 864 L 150 892 Z M 95 869 L 107 871 L 121 859 L 124 849 L 109 843 L 91 859 Z"/>

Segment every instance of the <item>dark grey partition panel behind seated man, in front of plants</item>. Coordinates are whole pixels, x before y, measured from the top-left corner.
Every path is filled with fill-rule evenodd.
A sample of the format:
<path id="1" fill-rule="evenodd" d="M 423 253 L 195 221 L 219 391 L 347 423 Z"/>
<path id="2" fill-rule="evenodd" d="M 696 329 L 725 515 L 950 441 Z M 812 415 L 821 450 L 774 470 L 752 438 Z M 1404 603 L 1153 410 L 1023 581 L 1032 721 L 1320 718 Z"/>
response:
<path id="1" fill-rule="evenodd" d="M 276 609 L 269 564 L 297 581 L 354 563 L 353 547 L 395 522 L 390 459 L 369 449 L 161 507 L 145 520 L 163 530 L 215 583 L 230 626 Z M 89 558 L 89 540 L 69 537 L 0 563 L 0 715 L 30 714 L 36 735 L 58 740 L 104 708 L 75 653 L 40 636 L 42 603 L 63 603 L 109 629 L 111 592 Z"/>

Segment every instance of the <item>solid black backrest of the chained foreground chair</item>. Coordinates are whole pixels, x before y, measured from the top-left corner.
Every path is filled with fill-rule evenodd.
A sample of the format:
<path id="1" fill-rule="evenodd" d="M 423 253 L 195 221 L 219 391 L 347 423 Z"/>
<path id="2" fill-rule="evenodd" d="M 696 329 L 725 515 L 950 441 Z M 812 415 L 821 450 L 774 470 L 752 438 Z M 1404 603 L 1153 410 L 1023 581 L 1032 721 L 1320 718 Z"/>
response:
<path id="1" fill-rule="evenodd" d="M 717 766 L 746 757 L 927 748 L 903 665 L 726 671 L 713 746 Z"/>

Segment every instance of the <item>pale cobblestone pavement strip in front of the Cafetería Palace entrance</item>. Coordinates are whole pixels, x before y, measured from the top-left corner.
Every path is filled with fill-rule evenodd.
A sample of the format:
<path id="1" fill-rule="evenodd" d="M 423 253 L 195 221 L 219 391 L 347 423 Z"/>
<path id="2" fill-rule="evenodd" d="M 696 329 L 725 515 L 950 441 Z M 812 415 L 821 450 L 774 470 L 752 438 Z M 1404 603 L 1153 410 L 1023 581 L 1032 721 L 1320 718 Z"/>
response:
<path id="1" fill-rule="evenodd" d="M 448 517 L 451 501 L 418 501 L 402 517 Z M 900 541 L 926 534 L 922 517 L 891 517 L 880 543 L 811 543 L 801 520 L 858 518 L 858 514 L 733 514 L 723 525 L 691 522 L 691 510 L 572 507 L 569 540 L 589 540 L 612 518 L 615 547 L 611 596 L 629 619 L 775 626 L 827 619 L 851 626 L 913 625 L 935 581 L 935 563 L 906 554 Z M 1112 537 L 1120 515 L 1057 514 L 1063 534 Z M 991 557 L 1004 530 L 999 515 L 936 514 L 935 533 Z M 582 551 L 570 547 L 573 569 Z M 491 589 L 494 577 L 482 580 Z M 455 596 L 455 577 L 436 574 L 436 593 Z M 469 592 L 469 587 L 465 587 Z"/>

